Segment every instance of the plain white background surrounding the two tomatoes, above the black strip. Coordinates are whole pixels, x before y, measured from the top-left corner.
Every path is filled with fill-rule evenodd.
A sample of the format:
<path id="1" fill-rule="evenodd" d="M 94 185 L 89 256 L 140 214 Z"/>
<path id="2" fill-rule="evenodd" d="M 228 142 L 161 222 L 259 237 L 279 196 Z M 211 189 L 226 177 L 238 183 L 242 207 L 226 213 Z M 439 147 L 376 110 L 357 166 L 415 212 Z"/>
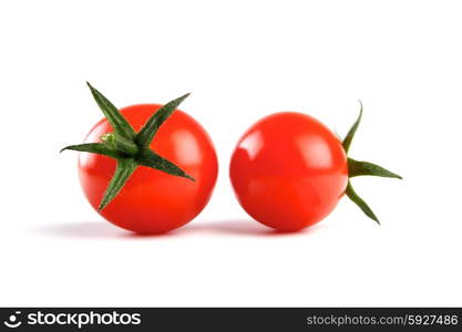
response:
<path id="1" fill-rule="evenodd" d="M 3 1 L 1 305 L 462 305 L 460 1 Z M 153 237 L 104 221 L 76 154 L 101 113 L 182 108 L 214 139 L 219 179 L 188 226 Z M 238 137 L 277 111 L 311 114 L 401 174 L 361 178 L 377 226 L 343 199 L 275 235 L 234 198 Z"/>

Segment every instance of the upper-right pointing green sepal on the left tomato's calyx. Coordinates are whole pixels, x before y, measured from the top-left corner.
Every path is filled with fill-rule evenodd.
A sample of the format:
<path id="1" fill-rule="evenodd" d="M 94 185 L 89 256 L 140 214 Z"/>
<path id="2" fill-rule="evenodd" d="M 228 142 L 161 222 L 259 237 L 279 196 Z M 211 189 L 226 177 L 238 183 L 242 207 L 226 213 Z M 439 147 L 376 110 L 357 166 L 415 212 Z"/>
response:
<path id="1" fill-rule="evenodd" d="M 144 124 L 143 128 L 136 135 L 138 146 L 148 146 L 157 133 L 160 126 L 172 115 L 178 105 L 188 96 L 186 93 L 181 97 L 173 100 L 157 110 Z"/>

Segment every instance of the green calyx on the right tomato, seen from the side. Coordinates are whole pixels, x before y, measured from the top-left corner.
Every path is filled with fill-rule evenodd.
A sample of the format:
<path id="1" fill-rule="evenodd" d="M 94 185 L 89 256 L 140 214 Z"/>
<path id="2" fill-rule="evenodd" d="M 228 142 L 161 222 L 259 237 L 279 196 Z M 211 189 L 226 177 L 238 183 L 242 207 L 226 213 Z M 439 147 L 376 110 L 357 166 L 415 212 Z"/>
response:
<path id="1" fill-rule="evenodd" d="M 351 142 L 355 137 L 355 134 L 358 129 L 358 126 L 361 122 L 362 117 L 362 103 L 359 101 L 361 108 L 359 112 L 359 116 L 355 124 L 351 126 L 350 131 L 348 132 L 347 136 L 345 137 L 342 142 L 342 146 L 345 152 L 348 155 L 348 151 L 350 149 Z M 350 179 L 356 176 L 380 176 L 380 177 L 392 177 L 392 178 L 399 178 L 402 179 L 401 176 L 399 176 L 396 173 L 392 173 L 379 165 L 368 163 L 368 162 L 358 162 L 350 157 L 348 157 L 348 185 L 346 189 L 346 194 L 348 198 L 350 198 L 369 218 L 377 221 L 377 224 L 380 225 L 379 219 L 377 218 L 376 214 L 371 210 L 371 208 L 366 204 L 366 201 L 358 196 L 358 194 L 353 190 L 353 187 L 351 185 Z"/>

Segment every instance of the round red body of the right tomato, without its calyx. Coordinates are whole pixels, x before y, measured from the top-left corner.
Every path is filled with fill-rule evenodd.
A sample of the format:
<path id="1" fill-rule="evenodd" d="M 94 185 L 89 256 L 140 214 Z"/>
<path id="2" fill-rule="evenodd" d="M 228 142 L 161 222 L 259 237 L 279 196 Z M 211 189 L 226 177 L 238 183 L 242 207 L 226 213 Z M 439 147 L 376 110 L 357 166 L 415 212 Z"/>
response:
<path id="1" fill-rule="evenodd" d="M 239 204 L 255 220 L 296 231 L 320 221 L 343 196 L 347 155 L 316 118 L 281 112 L 243 135 L 229 176 Z"/>

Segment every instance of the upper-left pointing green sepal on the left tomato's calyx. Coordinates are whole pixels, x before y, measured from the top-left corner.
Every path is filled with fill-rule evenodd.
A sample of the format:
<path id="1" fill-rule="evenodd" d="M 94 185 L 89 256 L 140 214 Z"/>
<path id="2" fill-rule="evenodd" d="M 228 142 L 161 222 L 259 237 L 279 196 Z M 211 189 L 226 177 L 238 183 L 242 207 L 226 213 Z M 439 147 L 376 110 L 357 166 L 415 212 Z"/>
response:
<path id="1" fill-rule="evenodd" d="M 136 133 L 125 117 L 123 117 L 121 112 L 119 112 L 119 110 L 89 82 L 86 82 L 86 85 L 89 85 L 97 106 L 100 106 L 100 110 L 107 118 L 114 132 L 127 139 L 133 139 L 136 136 Z"/>

